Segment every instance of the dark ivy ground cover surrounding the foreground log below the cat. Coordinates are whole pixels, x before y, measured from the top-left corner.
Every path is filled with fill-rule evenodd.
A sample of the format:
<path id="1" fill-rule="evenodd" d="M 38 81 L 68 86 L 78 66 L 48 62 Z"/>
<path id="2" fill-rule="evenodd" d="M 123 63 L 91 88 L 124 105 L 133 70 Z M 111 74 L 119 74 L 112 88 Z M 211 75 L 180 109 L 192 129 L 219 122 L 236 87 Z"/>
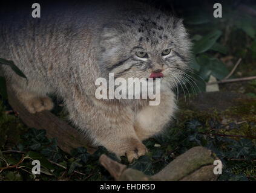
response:
<path id="1" fill-rule="evenodd" d="M 123 156 L 119 160 L 103 147 L 99 147 L 94 154 L 89 154 L 85 147 L 76 148 L 71 151 L 71 154 L 64 153 L 57 147 L 55 139 L 46 137 L 45 130 L 31 128 L 22 134 L 21 141 L 13 147 L 13 152 L 0 151 L 0 168 L 16 165 L 22 160 L 18 168 L 2 170 L 0 178 L 2 176 L 4 180 L 113 180 L 99 164 L 101 154 L 107 154 L 111 159 L 126 164 L 130 168 L 153 175 L 189 148 L 202 145 L 212 150 L 224 164 L 223 175 L 220 175 L 219 180 L 255 180 L 250 177 L 256 174 L 254 170 L 256 167 L 255 141 L 249 138 L 235 139 L 225 134 L 219 135 L 226 127 L 227 125 L 213 118 L 194 118 L 184 124 L 176 122 L 165 131 L 165 134 L 146 140 L 144 144 L 149 149 L 149 153 L 131 164 L 126 157 Z M 228 124 L 229 130 L 240 129 L 240 127 L 242 126 L 234 122 Z M 256 127 L 255 123 L 252 127 Z M 15 151 L 21 151 L 21 153 Z M 34 159 L 41 162 L 42 174 L 39 176 L 31 174 L 31 160 Z M 245 164 L 246 162 L 249 165 Z M 245 173 L 245 168 L 250 174 L 249 177 Z"/>

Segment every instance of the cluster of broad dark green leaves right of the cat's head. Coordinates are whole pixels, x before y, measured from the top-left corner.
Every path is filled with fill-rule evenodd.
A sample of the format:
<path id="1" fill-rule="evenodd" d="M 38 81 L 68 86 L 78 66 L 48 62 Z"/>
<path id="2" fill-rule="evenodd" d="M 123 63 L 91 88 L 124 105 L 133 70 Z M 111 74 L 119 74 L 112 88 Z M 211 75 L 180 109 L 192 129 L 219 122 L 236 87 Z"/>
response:
<path id="1" fill-rule="evenodd" d="M 223 5 L 228 7 L 227 4 Z M 209 13 L 203 12 L 200 7 L 186 8 L 183 11 L 186 15 L 185 25 L 191 33 L 194 43 L 192 48 L 192 60 L 190 67 L 194 69 L 195 74 L 189 74 L 194 77 L 195 84 L 198 84 L 199 91 L 205 91 L 205 83 L 208 82 L 210 75 L 222 80 L 228 75 L 229 70 L 226 65 L 218 60 L 231 53 L 231 49 L 226 46 L 226 42 L 232 38 L 230 35 L 235 30 L 243 31 L 240 35 L 237 45 L 241 47 L 245 39 L 250 37 L 254 40 L 249 48 L 241 49 L 240 57 L 246 57 L 246 52 L 251 50 L 252 59 L 256 59 L 256 22 L 255 18 L 246 14 L 240 14 L 237 10 L 226 8 L 225 17 L 216 19 L 209 16 Z M 183 14 L 184 14 L 183 13 Z M 186 14 L 188 13 L 188 14 Z M 197 14 L 194 14 L 197 13 Z M 241 42 L 241 43 L 239 43 Z M 238 54 L 235 54 L 237 57 Z"/>

